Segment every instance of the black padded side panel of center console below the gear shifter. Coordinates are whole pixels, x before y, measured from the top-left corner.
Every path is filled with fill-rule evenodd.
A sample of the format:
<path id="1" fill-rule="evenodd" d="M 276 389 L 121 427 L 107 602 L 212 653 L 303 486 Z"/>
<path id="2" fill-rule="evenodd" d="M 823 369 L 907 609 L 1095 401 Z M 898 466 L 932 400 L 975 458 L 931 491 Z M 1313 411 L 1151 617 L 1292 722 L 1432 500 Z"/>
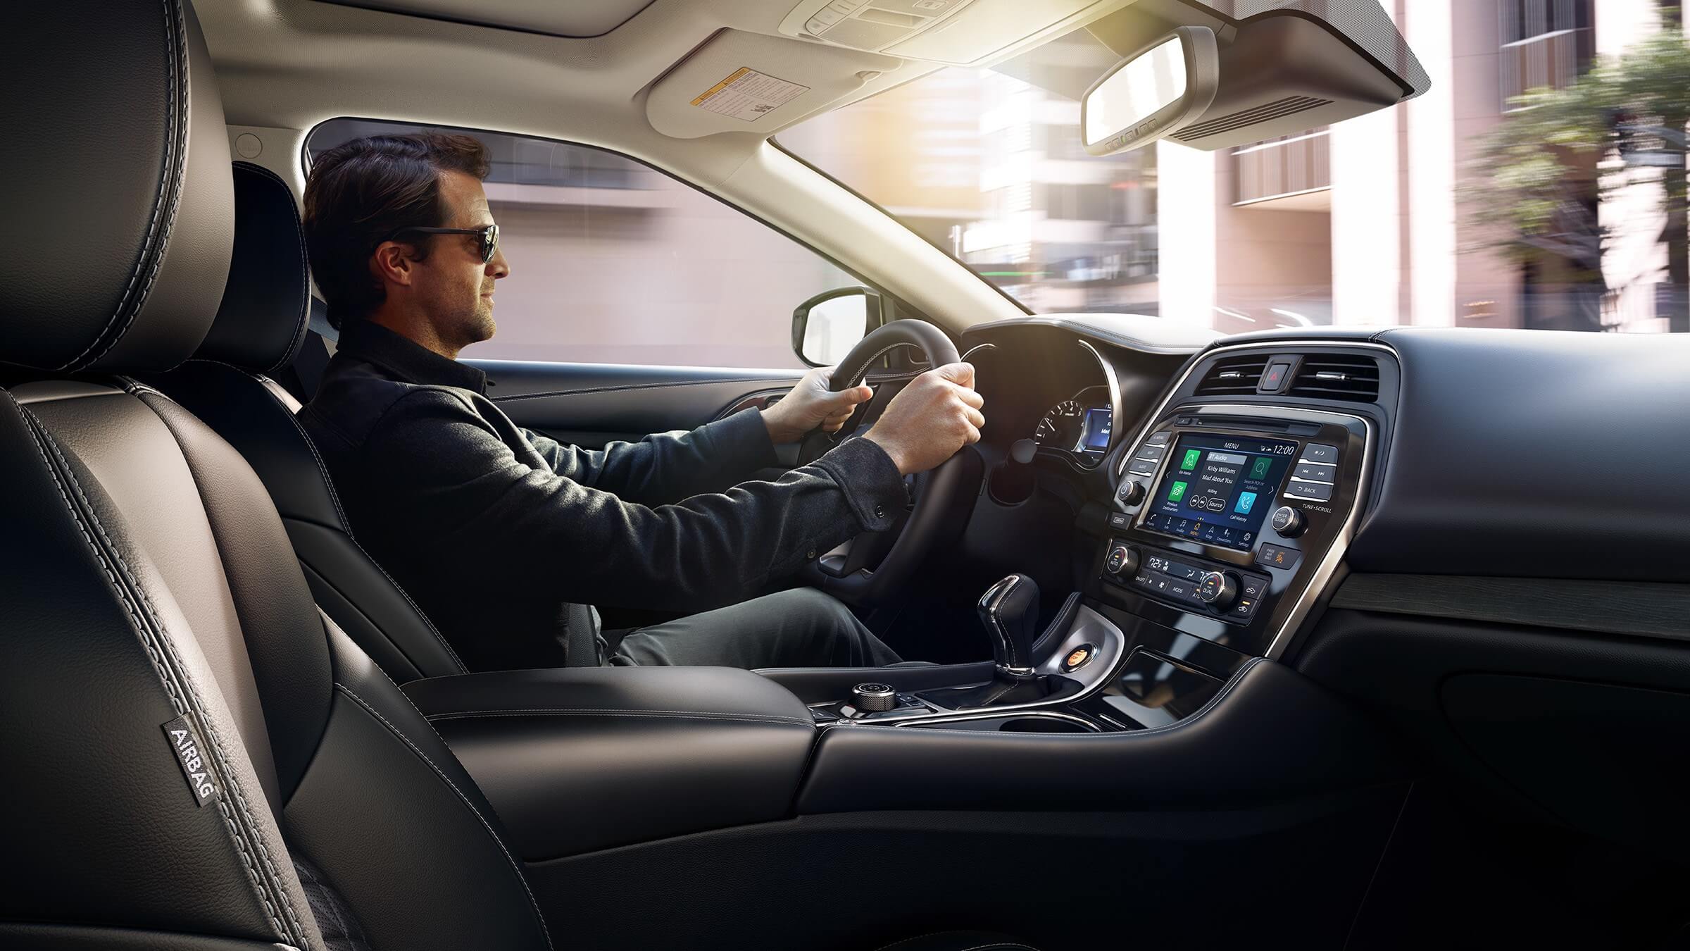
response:
<path id="1" fill-rule="evenodd" d="M 1256 658 L 1207 706 L 1154 729 L 833 726 L 798 812 L 1230 809 L 1404 775 L 1394 745 L 1349 704 Z"/>

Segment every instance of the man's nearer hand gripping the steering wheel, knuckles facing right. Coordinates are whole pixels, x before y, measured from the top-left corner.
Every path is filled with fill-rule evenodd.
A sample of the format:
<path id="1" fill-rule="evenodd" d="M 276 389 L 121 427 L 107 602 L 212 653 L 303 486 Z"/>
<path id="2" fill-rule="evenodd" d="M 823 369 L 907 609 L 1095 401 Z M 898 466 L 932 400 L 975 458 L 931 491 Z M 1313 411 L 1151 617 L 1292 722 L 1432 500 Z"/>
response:
<path id="1" fill-rule="evenodd" d="M 980 442 L 984 404 L 973 391 L 973 366 L 945 364 L 909 381 L 864 438 L 884 448 L 904 476 L 926 472 Z"/>

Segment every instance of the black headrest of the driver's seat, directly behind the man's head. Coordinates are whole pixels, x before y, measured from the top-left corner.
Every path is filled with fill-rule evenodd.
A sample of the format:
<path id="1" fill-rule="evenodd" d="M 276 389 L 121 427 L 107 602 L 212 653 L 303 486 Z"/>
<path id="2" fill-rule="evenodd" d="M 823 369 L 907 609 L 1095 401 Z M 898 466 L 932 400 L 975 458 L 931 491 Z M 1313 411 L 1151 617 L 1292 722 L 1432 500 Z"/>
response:
<path id="1" fill-rule="evenodd" d="M 262 374 L 291 364 L 311 320 L 308 272 L 294 191 L 270 169 L 235 162 L 235 257 L 216 322 L 194 355 Z"/>

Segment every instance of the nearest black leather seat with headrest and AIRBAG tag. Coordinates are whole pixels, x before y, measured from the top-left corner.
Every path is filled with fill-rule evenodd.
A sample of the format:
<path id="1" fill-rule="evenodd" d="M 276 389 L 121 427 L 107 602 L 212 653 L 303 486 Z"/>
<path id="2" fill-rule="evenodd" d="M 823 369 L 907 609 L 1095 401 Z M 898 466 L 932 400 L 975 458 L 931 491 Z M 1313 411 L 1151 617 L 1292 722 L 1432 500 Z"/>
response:
<path id="1" fill-rule="evenodd" d="M 14 8 L 0 64 L 0 946 L 551 948 L 571 909 L 313 604 L 254 469 L 130 376 L 208 337 L 235 186 L 193 10 L 95 17 Z"/>

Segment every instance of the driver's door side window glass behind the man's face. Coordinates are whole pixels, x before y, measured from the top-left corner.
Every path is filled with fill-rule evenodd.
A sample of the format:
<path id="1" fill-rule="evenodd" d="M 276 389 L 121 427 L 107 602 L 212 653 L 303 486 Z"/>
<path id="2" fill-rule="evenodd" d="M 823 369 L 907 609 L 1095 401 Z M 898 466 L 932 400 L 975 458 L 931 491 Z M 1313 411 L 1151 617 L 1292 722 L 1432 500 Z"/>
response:
<path id="1" fill-rule="evenodd" d="M 434 127 L 333 118 L 306 152 Z M 695 367 L 803 367 L 793 308 L 859 284 L 808 247 L 634 159 L 585 146 L 468 132 L 493 157 L 487 200 L 510 276 L 499 330 L 472 359 Z"/>

